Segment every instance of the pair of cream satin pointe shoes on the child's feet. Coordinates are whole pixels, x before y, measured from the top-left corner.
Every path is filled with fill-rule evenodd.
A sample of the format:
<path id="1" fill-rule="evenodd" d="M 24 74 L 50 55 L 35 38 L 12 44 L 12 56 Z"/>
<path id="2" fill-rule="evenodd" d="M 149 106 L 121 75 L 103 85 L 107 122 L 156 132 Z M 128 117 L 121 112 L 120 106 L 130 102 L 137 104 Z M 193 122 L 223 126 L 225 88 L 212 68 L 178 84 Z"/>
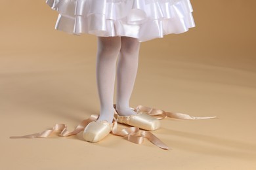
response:
<path id="1" fill-rule="evenodd" d="M 137 112 L 137 110 L 135 111 Z M 142 112 L 137 112 L 137 114 L 131 116 L 119 116 L 116 111 L 116 105 L 114 105 L 114 118 L 120 124 L 139 127 L 148 131 L 154 131 L 160 128 L 160 120 Z M 83 131 L 83 139 L 91 143 L 96 143 L 106 137 L 112 131 L 113 127 L 114 122 L 112 124 L 107 121 L 91 122 Z"/>

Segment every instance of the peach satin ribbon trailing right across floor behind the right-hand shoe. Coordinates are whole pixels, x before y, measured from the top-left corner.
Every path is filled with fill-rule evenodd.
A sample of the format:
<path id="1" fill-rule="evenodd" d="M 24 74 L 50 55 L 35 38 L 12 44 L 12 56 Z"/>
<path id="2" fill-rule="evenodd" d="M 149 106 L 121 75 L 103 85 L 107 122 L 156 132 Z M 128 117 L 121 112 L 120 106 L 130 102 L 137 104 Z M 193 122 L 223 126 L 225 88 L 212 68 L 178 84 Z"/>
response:
<path id="1" fill-rule="evenodd" d="M 135 109 L 131 107 L 131 109 L 136 110 L 137 112 L 144 112 L 150 116 L 155 116 L 158 119 L 163 119 L 167 117 L 184 119 L 184 120 L 200 120 L 200 119 L 217 118 L 216 116 L 195 117 L 195 116 L 190 116 L 188 114 L 184 114 L 180 112 L 165 112 L 164 110 L 154 109 L 151 107 L 144 107 L 142 105 L 138 105 Z"/>

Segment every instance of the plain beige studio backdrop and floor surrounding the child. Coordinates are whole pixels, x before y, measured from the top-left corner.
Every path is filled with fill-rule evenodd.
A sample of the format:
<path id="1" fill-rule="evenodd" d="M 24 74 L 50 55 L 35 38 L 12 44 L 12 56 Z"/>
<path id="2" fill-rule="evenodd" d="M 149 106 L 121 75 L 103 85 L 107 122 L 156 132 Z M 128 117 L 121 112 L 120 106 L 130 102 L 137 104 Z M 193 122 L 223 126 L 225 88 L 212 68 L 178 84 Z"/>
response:
<path id="1" fill-rule="evenodd" d="M 0 2 L 0 169 L 256 169 L 256 2 L 192 0 L 196 27 L 143 42 L 131 107 L 215 120 L 161 120 L 172 150 L 108 135 L 9 139 L 99 111 L 96 37 L 54 30 L 45 1 Z"/>

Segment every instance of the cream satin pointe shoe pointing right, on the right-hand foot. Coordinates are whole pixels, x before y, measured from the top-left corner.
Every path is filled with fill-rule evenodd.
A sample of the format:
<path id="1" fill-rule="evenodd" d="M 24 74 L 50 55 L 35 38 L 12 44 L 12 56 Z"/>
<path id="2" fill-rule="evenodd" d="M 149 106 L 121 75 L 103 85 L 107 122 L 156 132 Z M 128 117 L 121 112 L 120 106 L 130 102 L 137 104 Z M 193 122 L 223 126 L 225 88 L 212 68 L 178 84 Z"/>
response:
<path id="1" fill-rule="evenodd" d="M 115 109 L 114 117 L 117 119 L 117 122 L 120 124 L 127 124 L 129 126 L 139 127 L 140 129 L 144 129 L 148 131 L 154 131 L 160 128 L 160 120 L 146 113 L 137 112 L 137 114 L 130 115 L 130 116 L 119 116 L 116 110 L 116 105 L 114 105 L 114 109 Z"/>

